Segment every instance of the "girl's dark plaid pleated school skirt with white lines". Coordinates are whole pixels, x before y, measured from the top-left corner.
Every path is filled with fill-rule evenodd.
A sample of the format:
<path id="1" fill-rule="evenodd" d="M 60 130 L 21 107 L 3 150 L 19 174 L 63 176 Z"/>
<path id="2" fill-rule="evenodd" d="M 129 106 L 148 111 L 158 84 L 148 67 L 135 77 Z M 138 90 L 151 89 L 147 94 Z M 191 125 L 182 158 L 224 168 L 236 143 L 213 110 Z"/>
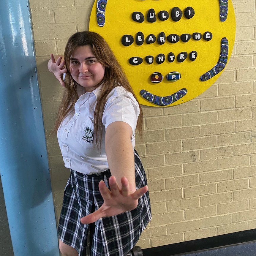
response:
<path id="1" fill-rule="evenodd" d="M 138 153 L 135 157 L 136 189 L 147 185 L 146 174 Z M 70 170 L 61 215 L 59 239 L 78 251 L 79 256 L 123 256 L 138 242 L 140 234 L 151 220 L 151 207 L 148 192 L 138 200 L 138 206 L 113 217 L 105 217 L 93 224 L 82 224 L 84 217 L 103 204 L 99 192 L 99 181 L 109 188 L 110 171 L 86 175 Z"/>

